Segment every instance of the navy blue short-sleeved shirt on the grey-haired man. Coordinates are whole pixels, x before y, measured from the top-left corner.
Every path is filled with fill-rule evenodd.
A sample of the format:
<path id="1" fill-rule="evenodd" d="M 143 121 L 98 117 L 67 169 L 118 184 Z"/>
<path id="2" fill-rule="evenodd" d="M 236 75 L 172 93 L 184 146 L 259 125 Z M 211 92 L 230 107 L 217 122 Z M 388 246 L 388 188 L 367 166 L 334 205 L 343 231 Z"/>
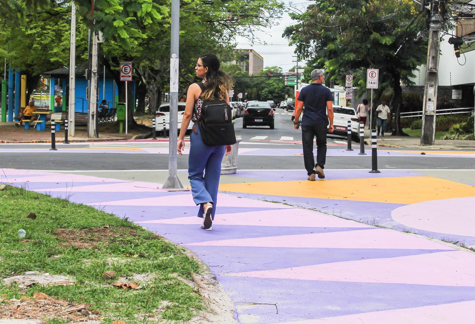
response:
<path id="1" fill-rule="evenodd" d="M 311 83 L 300 90 L 298 100 L 303 101 L 303 126 L 328 125 L 327 101 L 333 101 L 330 89 L 320 83 Z"/>

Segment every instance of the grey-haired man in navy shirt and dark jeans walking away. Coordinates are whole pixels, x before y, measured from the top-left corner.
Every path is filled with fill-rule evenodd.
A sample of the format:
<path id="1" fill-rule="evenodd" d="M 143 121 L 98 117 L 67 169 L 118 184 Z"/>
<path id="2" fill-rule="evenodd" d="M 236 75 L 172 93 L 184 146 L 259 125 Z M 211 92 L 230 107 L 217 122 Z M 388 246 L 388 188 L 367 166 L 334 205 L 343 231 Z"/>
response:
<path id="1" fill-rule="evenodd" d="M 303 162 L 307 170 L 308 181 L 315 181 L 315 174 L 319 179 L 325 179 L 325 161 L 327 159 L 327 125 L 328 131 L 333 133 L 333 96 L 330 89 L 323 85 L 324 70 L 315 69 L 311 73 L 312 83 L 302 88 L 297 98 L 295 108 L 294 128 L 299 128 L 299 118 L 305 106 L 302 117 L 302 147 Z M 313 155 L 313 139 L 317 142 L 317 164 Z"/>

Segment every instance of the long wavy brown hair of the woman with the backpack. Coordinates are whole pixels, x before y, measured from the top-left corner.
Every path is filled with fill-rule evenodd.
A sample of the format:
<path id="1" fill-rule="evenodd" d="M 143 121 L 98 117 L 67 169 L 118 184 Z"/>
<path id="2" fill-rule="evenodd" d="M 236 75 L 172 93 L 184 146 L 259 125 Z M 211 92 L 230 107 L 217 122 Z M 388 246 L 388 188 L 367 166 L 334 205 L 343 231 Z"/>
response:
<path id="1" fill-rule="evenodd" d="M 218 98 L 226 100 L 226 96 L 234 87 L 233 79 L 219 68 L 221 63 L 214 54 L 204 54 L 200 56 L 203 65 L 208 68 L 206 72 L 206 83 L 204 84 L 204 92 L 201 95 L 203 100 L 212 100 Z"/>

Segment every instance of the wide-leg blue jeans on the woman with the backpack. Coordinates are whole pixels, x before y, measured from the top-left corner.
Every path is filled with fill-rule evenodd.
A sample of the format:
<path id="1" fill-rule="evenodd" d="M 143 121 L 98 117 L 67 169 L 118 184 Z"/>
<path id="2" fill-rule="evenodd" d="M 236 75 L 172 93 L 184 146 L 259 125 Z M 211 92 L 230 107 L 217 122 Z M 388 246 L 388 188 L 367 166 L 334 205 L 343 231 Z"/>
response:
<path id="1" fill-rule="evenodd" d="M 224 146 L 208 146 L 203 143 L 199 129 L 190 136 L 190 155 L 188 156 L 188 179 L 191 185 L 193 201 L 199 205 L 198 217 L 203 217 L 202 203 L 213 204 L 214 220 L 216 199 L 218 197 L 219 178 L 221 176 L 221 161 L 225 153 Z"/>

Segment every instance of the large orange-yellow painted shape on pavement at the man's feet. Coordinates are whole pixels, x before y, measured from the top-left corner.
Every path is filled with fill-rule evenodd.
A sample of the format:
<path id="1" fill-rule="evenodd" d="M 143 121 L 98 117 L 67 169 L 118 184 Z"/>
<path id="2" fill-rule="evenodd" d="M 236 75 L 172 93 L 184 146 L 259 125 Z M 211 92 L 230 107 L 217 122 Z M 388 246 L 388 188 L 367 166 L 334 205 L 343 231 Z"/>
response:
<path id="1" fill-rule="evenodd" d="M 475 187 L 435 177 L 394 177 L 223 184 L 219 190 L 288 197 L 414 204 L 475 196 Z"/>

